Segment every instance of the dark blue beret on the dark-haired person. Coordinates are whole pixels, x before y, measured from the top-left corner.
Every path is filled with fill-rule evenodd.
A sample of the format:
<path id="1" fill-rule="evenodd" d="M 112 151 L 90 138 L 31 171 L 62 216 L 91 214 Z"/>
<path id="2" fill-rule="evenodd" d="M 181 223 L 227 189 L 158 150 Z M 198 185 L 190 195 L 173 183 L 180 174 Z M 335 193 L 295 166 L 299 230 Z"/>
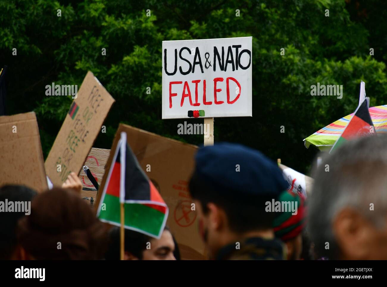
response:
<path id="1" fill-rule="evenodd" d="M 217 190 L 277 196 L 289 187 L 278 165 L 261 152 L 234 143 L 198 150 L 195 173 Z M 239 171 L 238 166 L 239 165 Z"/>

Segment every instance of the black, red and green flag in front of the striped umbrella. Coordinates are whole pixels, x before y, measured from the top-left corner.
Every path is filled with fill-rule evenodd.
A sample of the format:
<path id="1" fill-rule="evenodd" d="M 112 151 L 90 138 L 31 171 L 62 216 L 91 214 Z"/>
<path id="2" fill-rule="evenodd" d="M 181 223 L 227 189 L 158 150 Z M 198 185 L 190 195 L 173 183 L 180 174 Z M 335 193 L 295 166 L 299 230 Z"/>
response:
<path id="1" fill-rule="evenodd" d="M 375 127 L 373 126 L 370 112 L 368 111 L 369 99 L 370 98 L 365 98 L 363 103 L 358 106 L 352 119 L 349 121 L 329 153 L 340 147 L 348 140 L 375 134 Z"/>

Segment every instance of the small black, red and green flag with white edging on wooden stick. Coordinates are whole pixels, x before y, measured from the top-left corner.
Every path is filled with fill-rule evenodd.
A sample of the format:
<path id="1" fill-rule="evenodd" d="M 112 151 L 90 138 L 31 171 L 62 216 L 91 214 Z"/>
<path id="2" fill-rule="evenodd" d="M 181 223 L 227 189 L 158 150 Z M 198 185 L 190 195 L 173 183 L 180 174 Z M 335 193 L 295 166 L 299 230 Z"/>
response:
<path id="1" fill-rule="evenodd" d="M 125 228 L 160 238 L 168 206 L 142 170 L 126 133 L 121 133 L 103 189 L 97 217 L 121 226 L 120 203 L 124 203 Z"/>

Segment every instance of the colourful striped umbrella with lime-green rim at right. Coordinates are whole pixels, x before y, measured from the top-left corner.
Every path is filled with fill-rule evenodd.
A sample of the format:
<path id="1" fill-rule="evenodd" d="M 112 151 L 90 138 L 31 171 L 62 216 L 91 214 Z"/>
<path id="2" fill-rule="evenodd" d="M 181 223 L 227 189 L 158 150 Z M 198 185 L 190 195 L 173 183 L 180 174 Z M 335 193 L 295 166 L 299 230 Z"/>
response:
<path id="1" fill-rule="evenodd" d="M 368 108 L 368 111 L 370 111 L 375 131 L 377 133 L 387 132 L 387 105 L 370 107 Z M 319 150 L 329 151 L 344 131 L 344 128 L 347 126 L 352 116 L 353 113 L 325 126 L 325 128 L 322 128 L 313 133 L 313 135 L 305 138 L 305 147 L 309 148 L 310 145 L 315 145 Z"/>

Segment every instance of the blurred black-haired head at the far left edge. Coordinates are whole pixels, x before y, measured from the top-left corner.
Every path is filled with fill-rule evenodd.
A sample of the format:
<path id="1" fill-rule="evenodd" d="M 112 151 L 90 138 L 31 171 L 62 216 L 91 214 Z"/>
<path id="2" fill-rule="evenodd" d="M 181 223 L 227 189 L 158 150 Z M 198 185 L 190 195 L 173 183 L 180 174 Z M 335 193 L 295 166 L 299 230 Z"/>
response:
<path id="1" fill-rule="evenodd" d="M 23 185 L 4 185 L 0 188 L 0 260 L 20 259 L 15 229 L 17 221 L 29 214 L 36 192 Z M 11 203 L 12 202 L 12 203 Z M 13 212 L 4 212 L 13 206 Z M 15 207 L 18 207 L 15 210 Z M 23 210 L 19 210 L 23 207 Z M 4 210 L 3 210 L 4 209 Z"/>

